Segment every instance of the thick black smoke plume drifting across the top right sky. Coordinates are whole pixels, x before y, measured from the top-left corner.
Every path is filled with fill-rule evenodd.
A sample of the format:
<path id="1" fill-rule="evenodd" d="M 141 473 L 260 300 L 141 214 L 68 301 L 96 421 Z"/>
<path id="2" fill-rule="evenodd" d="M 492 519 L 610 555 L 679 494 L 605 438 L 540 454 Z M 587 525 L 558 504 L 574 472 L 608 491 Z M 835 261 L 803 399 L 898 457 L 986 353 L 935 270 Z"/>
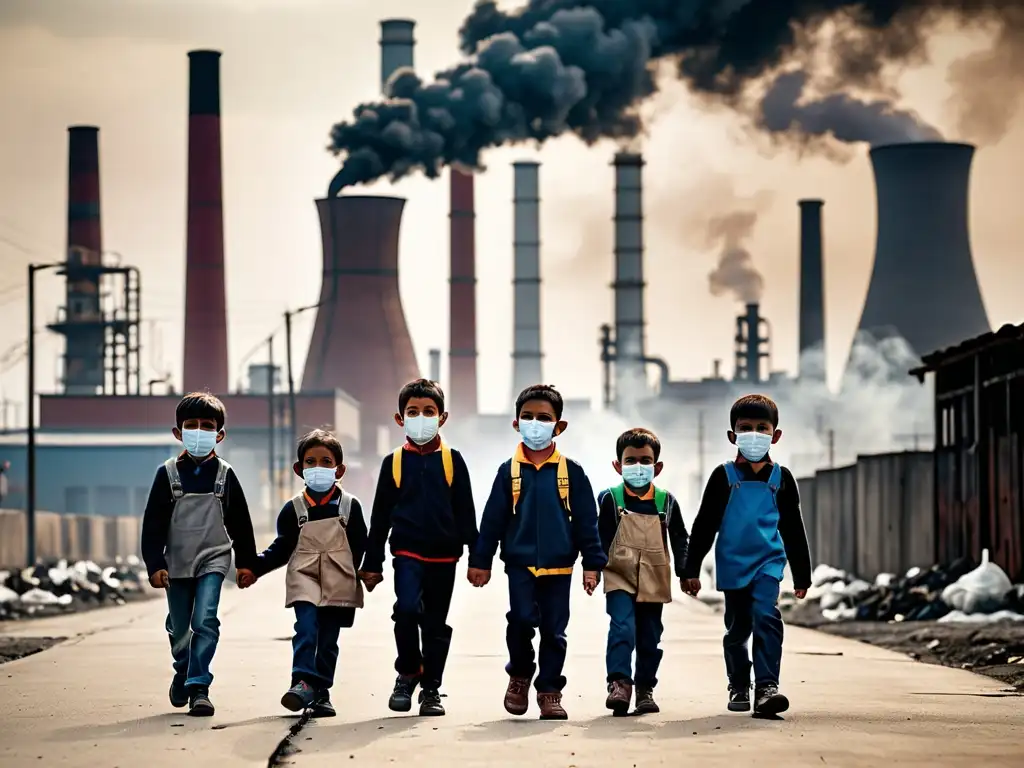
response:
<path id="1" fill-rule="evenodd" d="M 649 65 L 672 57 L 695 93 L 742 109 L 752 86 L 767 84 L 755 110 L 764 129 L 807 130 L 846 141 L 913 140 L 914 116 L 842 94 L 810 103 L 806 38 L 837 27 L 828 47 L 830 82 L 878 86 L 889 65 L 921 60 L 935 24 L 1001 25 L 1021 0 L 530 0 L 514 11 L 477 3 L 460 30 L 468 59 L 424 82 L 396 73 L 390 97 L 360 104 L 334 126 L 330 150 L 344 158 L 329 195 L 412 170 L 437 176 L 445 165 L 480 167 L 480 153 L 512 141 L 573 133 L 584 141 L 632 138 L 638 105 L 655 90 Z M 796 67 L 797 74 L 788 70 Z M 813 69 L 813 68 L 811 68 Z M 790 75 L 790 80 L 772 78 Z M 803 80 L 801 80 L 801 78 Z M 796 86 L 800 87 L 797 88 Z M 790 114 L 779 113 L 788 109 Z M 885 130 L 876 120 L 887 121 Z M 900 135 L 895 129 L 909 130 Z M 775 126 L 780 126 L 775 128 Z M 933 129 L 934 130 L 934 129 Z M 926 131 L 927 132 L 927 131 Z"/>

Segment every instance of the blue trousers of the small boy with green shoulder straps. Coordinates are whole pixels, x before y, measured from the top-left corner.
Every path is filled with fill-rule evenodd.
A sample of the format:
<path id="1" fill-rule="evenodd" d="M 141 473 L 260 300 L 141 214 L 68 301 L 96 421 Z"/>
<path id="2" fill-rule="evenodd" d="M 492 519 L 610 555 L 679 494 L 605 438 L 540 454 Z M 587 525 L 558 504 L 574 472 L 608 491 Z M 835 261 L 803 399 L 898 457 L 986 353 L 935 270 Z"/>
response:
<path id="1" fill-rule="evenodd" d="M 662 609 L 664 603 L 638 603 L 636 595 L 615 590 L 605 595 L 608 611 L 608 651 L 605 664 L 608 682 L 635 682 L 652 690 L 657 685 L 662 664 Z M 637 676 L 633 678 L 633 651 L 637 654 Z"/>

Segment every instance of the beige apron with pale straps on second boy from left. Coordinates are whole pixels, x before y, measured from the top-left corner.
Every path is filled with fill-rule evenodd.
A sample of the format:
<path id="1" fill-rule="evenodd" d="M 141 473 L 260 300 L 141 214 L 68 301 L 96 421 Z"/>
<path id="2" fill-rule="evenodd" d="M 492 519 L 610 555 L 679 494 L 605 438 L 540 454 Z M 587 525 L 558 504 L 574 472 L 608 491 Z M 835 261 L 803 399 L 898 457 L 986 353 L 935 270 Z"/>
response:
<path id="1" fill-rule="evenodd" d="M 348 515 L 352 496 L 341 492 L 338 517 L 309 520 L 305 495 L 292 500 L 299 518 L 299 541 L 285 572 L 285 607 L 297 602 L 317 607 L 362 607 L 362 585 L 355 575 L 352 550 L 348 546 Z"/>

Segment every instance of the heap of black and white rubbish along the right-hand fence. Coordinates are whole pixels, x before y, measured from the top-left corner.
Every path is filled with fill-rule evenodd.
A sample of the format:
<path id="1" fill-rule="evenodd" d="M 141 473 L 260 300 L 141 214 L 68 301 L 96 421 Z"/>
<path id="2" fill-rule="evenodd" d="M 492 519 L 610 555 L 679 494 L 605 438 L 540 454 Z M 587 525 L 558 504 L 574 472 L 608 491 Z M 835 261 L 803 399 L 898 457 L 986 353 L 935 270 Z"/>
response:
<path id="1" fill-rule="evenodd" d="M 903 577 L 882 573 L 873 584 L 828 565 L 818 565 L 807 601 L 817 602 L 826 622 L 1024 622 L 1024 585 L 1014 585 L 988 561 L 961 558 Z"/>

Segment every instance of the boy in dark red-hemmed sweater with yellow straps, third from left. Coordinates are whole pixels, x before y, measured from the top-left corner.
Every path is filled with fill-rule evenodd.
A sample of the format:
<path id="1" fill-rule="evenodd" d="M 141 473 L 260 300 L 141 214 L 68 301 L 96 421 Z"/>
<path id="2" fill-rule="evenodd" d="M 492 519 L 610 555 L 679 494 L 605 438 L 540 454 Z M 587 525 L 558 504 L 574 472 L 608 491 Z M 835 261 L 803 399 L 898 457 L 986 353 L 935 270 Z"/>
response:
<path id="1" fill-rule="evenodd" d="M 446 420 L 444 392 L 436 382 L 417 379 L 401 388 L 394 421 L 404 429 L 406 443 L 381 465 L 359 571 L 368 590 L 381 583 L 390 534 L 398 673 L 388 700 L 393 712 L 413 709 L 419 685 L 420 715 L 444 714 L 439 690 L 452 644 L 447 613 L 455 567 L 476 542 L 469 470 L 439 434 Z"/>

